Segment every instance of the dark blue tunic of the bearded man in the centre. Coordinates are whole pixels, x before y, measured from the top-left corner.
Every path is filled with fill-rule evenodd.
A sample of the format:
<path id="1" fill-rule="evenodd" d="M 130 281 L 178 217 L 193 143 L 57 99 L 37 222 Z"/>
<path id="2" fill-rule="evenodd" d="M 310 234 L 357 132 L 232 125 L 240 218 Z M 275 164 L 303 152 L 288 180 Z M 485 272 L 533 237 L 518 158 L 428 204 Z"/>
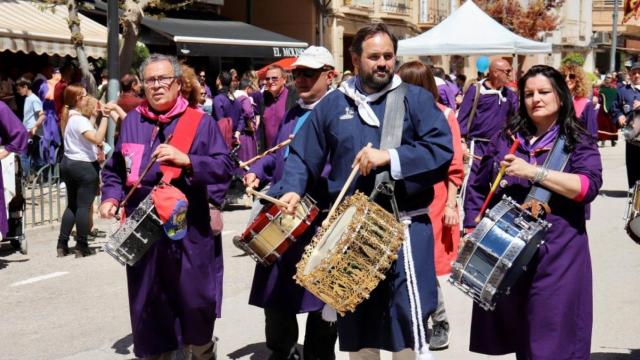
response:
<path id="1" fill-rule="evenodd" d="M 382 96 L 370 104 L 381 122 L 384 121 L 386 99 Z M 408 85 L 404 105 L 402 142 L 396 148 L 404 179 L 396 181 L 396 196 L 400 210 L 408 211 L 429 205 L 433 198 L 433 184 L 447 176 L 453 149 L 449 125 L 431 94 Z M 329 198 L 335 199 L 351 173 L 351 163 L 358 151 L 369 142 L 374 148 L 379 148 L 381 130 L 381 127 L 369 126 L 360 119 L 351 99 L 333 91 L 315 107 L 308 123 L 292 142 L 284 176 L 272 187 L 271 193 L 306 193 L 321 177 L 327 155 L 331 153 L 328 191 Z M 388 166 L 377 171 L 385 168 Z M 375 174 L 358 177 L 348 193 L 358 189 L 369 194 L 374 180 Z M 423 320 L 426 321 L 437 302 L 433 234 L 427 215 L 412 220 L 412 255 Z M 341 351 L 358 351 L 365 347 L 400 351 L 414 346 L 403 255 L 401 251 L 398 261 L 369 299 L 361 303 L 354 313 L 338 319 Z"/>

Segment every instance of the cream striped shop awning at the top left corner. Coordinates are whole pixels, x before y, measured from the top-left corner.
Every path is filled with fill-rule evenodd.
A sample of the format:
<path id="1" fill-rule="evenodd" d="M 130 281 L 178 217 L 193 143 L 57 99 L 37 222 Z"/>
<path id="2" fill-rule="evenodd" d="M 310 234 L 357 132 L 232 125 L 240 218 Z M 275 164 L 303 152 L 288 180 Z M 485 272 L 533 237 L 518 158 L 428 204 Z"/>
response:
<path id="1" fill-rule="evenodd" d="M 64 5 L 0 0 L 0 51 L 75 57 L 68 14 Z M 79 17 L 87 56 L 106 57 L 107 28 L 84 15 Z"/>

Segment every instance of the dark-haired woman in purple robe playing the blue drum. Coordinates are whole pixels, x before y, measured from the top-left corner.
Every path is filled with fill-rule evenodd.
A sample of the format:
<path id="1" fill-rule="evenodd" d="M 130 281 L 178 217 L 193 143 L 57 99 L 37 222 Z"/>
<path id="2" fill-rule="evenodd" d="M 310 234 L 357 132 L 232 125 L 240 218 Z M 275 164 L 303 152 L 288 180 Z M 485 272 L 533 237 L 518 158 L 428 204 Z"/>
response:
<path id="1" fill-rule="evenodd" d="M 552 226 L 527 271 L 495 310 L 474 304 L 470 350 L 490 355 L 515 352 L 517 359 L 588 359 L 593 296 L 584 209 L 602 185 L 600 154 L 593 137 L 579 125 L 560 72 L 534 66 L 520 79 L 518 89 L 518 117 L 489 143 L 469 187 L 464 224 L 476 225 L 489 184 L 505 165 L 501 189 L 493 198 L 508 195 L 522 203 L 531 186 L 538 184 L 551 191 L 546 220 Z M 515 155 L 505 155 L 513 143 L 507 131 L 521 142 Z M 543 170 L 540 165 L 559 135 L 567 139 L 568 163 L 562 171 Z"/>

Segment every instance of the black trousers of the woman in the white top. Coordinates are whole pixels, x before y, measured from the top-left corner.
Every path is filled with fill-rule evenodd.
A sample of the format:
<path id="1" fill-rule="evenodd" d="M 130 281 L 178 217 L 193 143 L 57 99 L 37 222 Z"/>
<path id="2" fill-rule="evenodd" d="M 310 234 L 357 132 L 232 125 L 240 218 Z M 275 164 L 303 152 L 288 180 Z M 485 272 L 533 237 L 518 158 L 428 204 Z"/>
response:
<path id="1" fill-rule="evenodd" d="M 67 186 L 67 208 L 62 215 L 58 248 L 66 248 L 73 225 L 76 225 L 76 246 L 86 248 L 89 234 L 89 209 L 96 197 L 100 167 L 98 162 L 71 160 L 60 164 L 60 178 Z"/>

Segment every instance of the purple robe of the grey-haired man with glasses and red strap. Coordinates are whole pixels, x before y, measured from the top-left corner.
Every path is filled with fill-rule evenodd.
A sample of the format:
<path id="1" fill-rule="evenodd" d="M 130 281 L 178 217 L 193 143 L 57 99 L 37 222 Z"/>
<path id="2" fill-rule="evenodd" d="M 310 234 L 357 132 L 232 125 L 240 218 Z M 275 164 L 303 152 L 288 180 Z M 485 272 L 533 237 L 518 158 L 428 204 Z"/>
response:
<path id="1" fill-rule="evenodd" d="M 102 200 L 122 201 L 155 148 L 172 134 L 177 117 L 155 139 L 155 122 L 137 111 L 127 114 L 113 156 L 102 171 Z M 222 301 L 222 244 L 209 225 L 207 186 L 226 188 L 233 163 L 222 135 L 203 114 L 189 150 L 192 171 L 172 184 L 189 201 L 187 234 L 180 241 L 158 239 L 135 266 L 127 266 L 129 310 L 136 356 L 173 351 L 183 344 L 203 345 L 213 335 Z M 160 181 L 159 163 L 151 167 L 126 205 L 131 213 Z"/>

